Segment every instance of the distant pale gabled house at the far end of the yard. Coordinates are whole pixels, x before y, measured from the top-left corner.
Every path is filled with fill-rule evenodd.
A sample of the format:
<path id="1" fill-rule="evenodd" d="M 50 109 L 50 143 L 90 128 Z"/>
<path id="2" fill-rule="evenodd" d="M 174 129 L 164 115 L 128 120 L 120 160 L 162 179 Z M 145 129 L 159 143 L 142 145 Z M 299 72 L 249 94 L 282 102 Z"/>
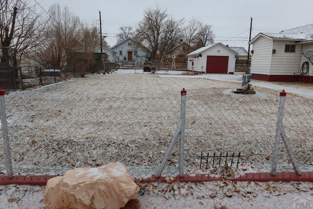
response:
<path id="1" fill-rule="evenodd" d="M 150 55 L 150 50 L 147 47 L 132 38 L 117 43 L 111 47 L 111 50 L 116 52 L 115 62 L 122 62 L 126 58 L 126 61 L 141 63 L 145 62 L 146 57 Z"/>

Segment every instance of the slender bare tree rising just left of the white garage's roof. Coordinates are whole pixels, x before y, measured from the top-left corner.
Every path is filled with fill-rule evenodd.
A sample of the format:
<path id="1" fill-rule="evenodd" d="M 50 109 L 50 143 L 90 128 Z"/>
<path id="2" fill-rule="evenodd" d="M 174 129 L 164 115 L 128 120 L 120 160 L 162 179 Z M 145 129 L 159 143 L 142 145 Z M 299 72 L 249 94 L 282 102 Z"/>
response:
<path id="1" fill-rule="evenodd" d="M 190 46 L 196 46 L 198 42 L 199 32 L 201 31 L 202 22 L 199 19 L 192 18 L 188 20 L 188 24 L 182 29 L 184 41 L 188 44 L 188 53 L 191 52 Z"/>

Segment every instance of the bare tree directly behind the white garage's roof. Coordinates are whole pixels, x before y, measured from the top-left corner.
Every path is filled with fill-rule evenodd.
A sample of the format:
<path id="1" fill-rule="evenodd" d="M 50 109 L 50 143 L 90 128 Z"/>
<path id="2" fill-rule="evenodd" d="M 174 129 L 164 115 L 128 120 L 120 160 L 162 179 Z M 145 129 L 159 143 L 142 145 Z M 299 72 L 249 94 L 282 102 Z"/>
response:
<path id="1" fill-rule="evenodd" d="M 197 33 L 197 44 L 195 49 L 214 43 L 214 33 L 211 27 L 212 26 L 209 24 L 201 25 L 200 30 Z"/>

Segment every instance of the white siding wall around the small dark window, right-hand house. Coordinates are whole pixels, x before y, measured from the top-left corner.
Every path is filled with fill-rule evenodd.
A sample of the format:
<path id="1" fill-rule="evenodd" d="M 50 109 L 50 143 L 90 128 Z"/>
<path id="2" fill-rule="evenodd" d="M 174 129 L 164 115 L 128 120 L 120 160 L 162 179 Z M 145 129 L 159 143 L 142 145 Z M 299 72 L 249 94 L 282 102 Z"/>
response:
<path id="1" fill-rule="evenodd" d="M 272 54 L 270 65 L 271 75 L 297 75 L 299 71 L 301 45 L 295 45 L 295 52 L 285 52 L 285 45 L 295 45 L 295 42 L 276 41 L 273 42 L 273 49 L 276 53 Z"/>

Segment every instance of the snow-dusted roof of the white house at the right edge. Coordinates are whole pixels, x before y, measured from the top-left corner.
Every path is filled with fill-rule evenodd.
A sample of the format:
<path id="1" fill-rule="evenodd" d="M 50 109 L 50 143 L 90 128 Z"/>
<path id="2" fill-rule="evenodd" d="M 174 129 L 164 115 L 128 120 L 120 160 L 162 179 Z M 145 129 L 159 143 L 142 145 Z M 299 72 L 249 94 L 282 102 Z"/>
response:
<path id="1" fill-rule="evenodd" d="M 261 36 L 271 40 L 286 40 L 296 42 L 313 41 L 313 24 L 282 30 L 279 33 L 259 33 L 249 44 L 253 44 Z"/>

